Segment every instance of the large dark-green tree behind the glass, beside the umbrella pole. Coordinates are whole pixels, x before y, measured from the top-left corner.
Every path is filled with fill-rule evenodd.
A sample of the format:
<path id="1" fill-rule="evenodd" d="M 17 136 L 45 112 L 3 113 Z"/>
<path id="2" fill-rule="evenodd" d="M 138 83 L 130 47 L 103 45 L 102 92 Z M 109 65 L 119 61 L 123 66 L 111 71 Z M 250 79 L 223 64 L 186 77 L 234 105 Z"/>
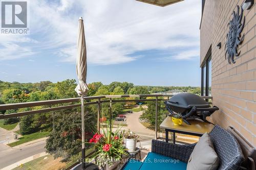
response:
<path id="1" fill-rule="evenodd" d="M 97 114 L 90 107 L 85 107 L 84 114 L 86 141 L 96 131 Z M 54 130 L 46 140 L 46 151 L 54 158 L 70 158 L 81 151 L 81 110 L 66 109 L 56 115 Z M 86 146 L 88 148 L 88 145 Z"/>

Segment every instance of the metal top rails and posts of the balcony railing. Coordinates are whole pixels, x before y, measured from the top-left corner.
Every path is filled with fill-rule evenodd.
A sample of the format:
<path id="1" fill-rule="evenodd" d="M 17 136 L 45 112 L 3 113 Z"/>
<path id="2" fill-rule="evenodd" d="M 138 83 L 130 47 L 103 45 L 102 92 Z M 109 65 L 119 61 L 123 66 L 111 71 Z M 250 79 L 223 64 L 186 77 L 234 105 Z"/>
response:
<path id="1" fill-rule="evenodd" d="M 97 130 L 100 130 L 100 113 L 101 108 L 104 103 L 109 105 L 110 118 L 113 119 L 112 105 L 120 102 L 155 102 L 155 139 L 162 139 L 158 137 L 159 125 L 157 124 L 158 113 L 159 113 L 159 103 L 161 101 L 166 101 L 171 98 L 171 94 L 140 94 L 140 95 L 101 95 L 101 96 L 87 96 L 84 97 L 84 106 L 97 105 Z M 211 96 L 201 96 L 203 99 L 212 99 Z M 125 99 L 129 98 L 129 99 Z M 132 99 L 131 99 L 132 98 Z M 81 98 L 71 98 L 71 99 L 59 99 L 59 100 L 48 100 L 48 101 L 38 101 L 38 102 L 26 102 L 26 103 L 13 103 L 13 104 L 3 104 L 0 105 L 0 110 L 11 110 L 11 109 L 22 109 L 31 108 L 28 111 L 10 113 L 10 114 L 0 114 L 0 119 L 22 117 L 33 114 L 44 114 L 47 112 L 63 110 L 63 109 L 73 109 L 81 107 Z M 44 107 L 37 109 L 38 106 Z"/>

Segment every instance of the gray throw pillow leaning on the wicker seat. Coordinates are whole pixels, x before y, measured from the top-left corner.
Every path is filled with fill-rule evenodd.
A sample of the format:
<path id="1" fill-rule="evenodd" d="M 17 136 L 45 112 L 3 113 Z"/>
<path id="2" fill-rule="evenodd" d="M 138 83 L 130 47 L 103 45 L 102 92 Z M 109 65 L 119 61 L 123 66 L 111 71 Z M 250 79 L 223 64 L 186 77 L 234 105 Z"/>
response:
<path id="1" fill-rule="evenodd" d="M 191 153 L 187 170 L 215 170 L 219 166 L 219 158 L 207 133 L 199 139 Z"/>

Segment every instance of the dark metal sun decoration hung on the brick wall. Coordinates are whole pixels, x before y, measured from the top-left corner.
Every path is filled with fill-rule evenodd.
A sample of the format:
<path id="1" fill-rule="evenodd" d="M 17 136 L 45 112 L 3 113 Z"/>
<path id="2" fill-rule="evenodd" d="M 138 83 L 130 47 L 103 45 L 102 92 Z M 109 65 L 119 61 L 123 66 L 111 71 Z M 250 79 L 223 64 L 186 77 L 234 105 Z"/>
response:
<path id="1" fill-rule="evenodd" d="M 243 8 L 241 8 L 241 14 L 239 14 L 239 6 L 237 6 L 237 13 L 233 11 L 233 19 L 229 21 L 228 25 L 229 26 L 229 31 L 227 33 L 227 41 L 225 44 L 225 58 L 227 59 L 228 55 L 228 63 L 236 63 L 234 61 L 234 56 L 238 57 L 240 55 L 240 52 L 237 52 L 238 45 L 240 45 L 243 40 L 244 40 L 244 35 L 241 38 L 241 32 L 244 28 L 244 23 L 245 23 L 245 17 L 242 21 L 243 17 Z M 231 61 L 230 61 L 231 60 Z"/>

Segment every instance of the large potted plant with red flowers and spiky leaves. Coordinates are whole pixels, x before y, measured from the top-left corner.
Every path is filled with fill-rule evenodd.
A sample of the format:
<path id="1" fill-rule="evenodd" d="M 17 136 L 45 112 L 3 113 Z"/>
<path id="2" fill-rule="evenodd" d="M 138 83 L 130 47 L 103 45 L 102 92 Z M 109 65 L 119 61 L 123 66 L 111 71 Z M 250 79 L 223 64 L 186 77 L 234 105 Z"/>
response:
<path id="1" fill-rule="evenodd" d="M 89 143 L 94 144 L 95 152 L 91 158 L 96 165 L 105 170 L 112 170 L 117 167 L 119 162 L 122 162 L 122 155 L 127 155 L 123 146 L 122 134 L 119 133 L 120 128 L 115 132 L 113 125 L 110 127 L 107 123 L 106 128 L 102 128 L 102 133 L 97 132 L 90 139 Z"/>

